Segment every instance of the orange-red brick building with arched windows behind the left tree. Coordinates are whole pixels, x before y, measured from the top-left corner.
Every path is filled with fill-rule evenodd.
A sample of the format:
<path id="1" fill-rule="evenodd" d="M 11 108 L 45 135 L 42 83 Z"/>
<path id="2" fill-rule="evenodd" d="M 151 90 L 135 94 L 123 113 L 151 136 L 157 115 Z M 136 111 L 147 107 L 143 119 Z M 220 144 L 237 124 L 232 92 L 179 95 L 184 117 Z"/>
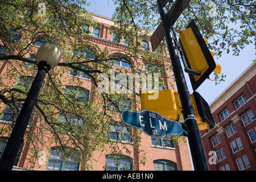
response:
<path id="1" fill-rule="evenodd" d="M 92 35 L 92 40 L 90 41 L 91 44 L 97 46 L 101 50 L 104 50 L 104 48 L 108 48 L 111 53 L 114 55 L 122 55 L 127 50 L 127 46 L 125 42 L 121 42 L 119 44 L 115 43 L 113 38 L 114 35 L 110 34 L 110 27 L 113 26 L 113 20 L 110 18 L 106 18 L 104 16 L 100 15 L 94 15 L 94 18 L 98 22 L 98 27 L 86 27 L 87 30 Z M 150 42 L 147 40 L 143 40 L 144 45 L 150 49 Z M 43 39 L 40 40 L 40 43 L 43 42 Z M 38 46 L 34 46 L 34 48 L 38 48 Z M 148 50 L 150 51 L 150 50 Z M 29 55 L 27 55 L 28 57 Z M 133 60 L 129 60 L 133 62 Z M 144 63 L 144 60 L 141 60 L 142 63 Z M 134 63 L 135 64 L 135 63 Z M 146 63 L 145 63 L 146 64 Z M 169 63 L 170 64 L 170 63 Z M 6 68 L 8 66 L 8 63 L 1 61 L 1 69 L 0 73 L 1 75 L 5 75 L 7 72 Z M 27 65 L 24 65 L 26 67 Z M 130 69 L 127 64 L 119 64 L 119 65 L 113 65 L 113 68 L 123 68 L 123 69 Z M 94 65 L 94 67 L 97 67 L 97 65 Z M 56 67 L 56 69 L 59 69 Z M 145 68 L 141 68 L 144 70 Z M 162 71 L 166 72 L 167 75 L 170 75 L 171 78 L 164 78 L 164 87 L 166 89 L 172 89 L 172 84 L 174 84 L 174 78 L 172 77 L 172 72 L 165 71 L 164 67 L 162 65 Z M 73 74 L 72 71 L 65 72 L 64 77 L 67 78 L 76 78 L 77 75 Z M 47 78 L 46 78 L 47 79 Z M 89 90 L 86 94 L 86 97 L 90 97 L 94 99 L 94 93 L 92 92 L 93 86 L 92 82 L 86 75 L 81 75 L 80 80 L 82 82 L 82 88 Z M 22 81 L 22 78 L 19 78 L 19 80 L 13 81 L 14 85 L 19 84 L 19 82 Z M 47 81 L 46 81 L 47 84 Z M 65 85 L 65 84 L 64 84 Z M 72 87 L 74 88 L 74 86 Z M 65 94 L 65 93 L 64 93 Z M 11 111 L 8 110 L 8 108 L 5 106 L 5 104 L 1 103 L 1 110 L 2 115 L 1 121 L 0 121 L 0 127 L 3 125 L 3 123 L 11 124 L 11 121 L 9 122 L 9 115 L 12 114 Z M 137 108 L 140 110 L 140 108 Z M 9 111 L 9 113 L 8 113 Z M 8 115 L 9 114 L 9 115 Z M 112 132 L 113 139 L 115 139 L 115 131 Z M 191 159 L 189 156 L 189 150 L 188 150 L 188 144 L 184 143 L 182 140 L 179 143 L 180 147 L 175 147 L 174 143 L 172 143 L 172 140 L 168 139 L 154 139 L 149 137 L 148 135 L 142 133 L 142 143 L 139 147 L 139 150 L 143 150 L 146 152 L 146 155 L 144 157 L 146 158 L 146 163 L 141 164 L 139 163 L 139 159 L 137 157 L 137 154 L 134 151 L 133 143 L 129 143 L 126 140 L 122 140 L 119 143 L 119 147 L 122 147 L 124 144 L 127 148 L 129 148 L 130 151 L 132 151 L 130 157 L 126 156 L 125 159 L 120 159 L 121 167 L 126 167 L 127 169 L 132 169 L 134 166 L 134 161 L 138 161 L 139 166 L 137 166 L 138 170 L 192 170 L 192 164 Z M 2 151 L 5 148 L 6 142 L 7 142 L 8 136 L 0 136 L 0 156 Z M 166 146 L 166 147 L 164 147 Z M 39 170 L 84 170 L 81 168 L 79 164 L 67 162 L 64 164 L 64 162 L 61 159 L 61 156 L 59 154 L 56 154 L 55 147 L 52 146 L 51 149 L 44 148 L 44 150 L 39 151 L 40 155 L 42 155 L 42 158 L 36 162 L 34 168 L 28 167 L 27 158 L 29 158 L 28 151 L 30 150 L 30 143 L 26 140 L 24 141 L 24 145 L 22 147 L 22 150 L 18 154 L 18 158 L 15 162 L 14 169 L 16 170 L 22 170 L 22 169 L 39 169 Z M 111 149 L 109 149 L 111 150 Z M 123 153 L 125 155 L 125 149 L 123 149 Z M 39 154 L 38 154 L 39 155 Z M 108 151 L 105 153 L 102 151 L 95 151 L 94 159 L 97 159 L 96 161 L 92 161 L 93 170 L 103 170 L 105 169 L 112 169 L 112 170 L 121 170 L 122 168 L 119 166 L 116 166 L 114 163 L 114 159 L 108 155 Z M 131 157 L 133 157 L 133 162 L 130 162 L 129 160 Z M 40 168 L 39 168 L 40 166 Z"/>

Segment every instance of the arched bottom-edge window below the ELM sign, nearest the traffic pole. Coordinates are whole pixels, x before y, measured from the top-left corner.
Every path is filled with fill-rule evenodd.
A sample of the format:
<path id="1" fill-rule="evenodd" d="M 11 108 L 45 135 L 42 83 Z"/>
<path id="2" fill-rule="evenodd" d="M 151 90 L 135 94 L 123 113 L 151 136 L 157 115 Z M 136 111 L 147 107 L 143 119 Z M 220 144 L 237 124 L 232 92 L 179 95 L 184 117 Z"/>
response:
<path id="1" fill-rule="evenodd" d="M 177 164 L 170 160 L 154 160 L 154 171 L 177 171 Z"/>

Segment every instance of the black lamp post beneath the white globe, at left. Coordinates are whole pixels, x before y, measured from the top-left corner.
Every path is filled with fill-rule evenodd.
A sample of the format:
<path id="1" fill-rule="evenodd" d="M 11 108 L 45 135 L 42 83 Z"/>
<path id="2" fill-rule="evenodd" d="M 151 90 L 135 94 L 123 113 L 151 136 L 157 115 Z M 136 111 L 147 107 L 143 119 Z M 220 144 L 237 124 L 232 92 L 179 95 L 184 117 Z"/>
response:
<path id="1" fill-rule="evenodd" d="M 36 73 L 27 98 L 22 106 L 22 109 L 20 110 L 18 118 L 16 119 L 5 150 L 3 150 L 0 159 L 0 171 L 11 171 L 11 169 L 13 169 L 16 155 L 18 153 L 20 144 L 23 142 L 23 137 L 38 99 L 40 89 L 42 88 L 44 77 L 49 69 L 51 69 L 51 65 L 46 61 L 40 61 L 38 63 L 38 73 Z"/>

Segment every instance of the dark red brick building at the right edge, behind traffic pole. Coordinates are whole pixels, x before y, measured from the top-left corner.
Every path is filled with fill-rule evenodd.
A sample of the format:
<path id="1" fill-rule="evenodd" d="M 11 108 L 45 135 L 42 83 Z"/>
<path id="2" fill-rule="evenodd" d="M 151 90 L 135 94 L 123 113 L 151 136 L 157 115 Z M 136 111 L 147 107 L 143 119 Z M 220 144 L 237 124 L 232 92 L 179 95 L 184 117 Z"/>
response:
<path id="1" fill-rule="evenodd" d="M 209 106 L 217 124 L 201 131 L 210 170 L 256 170 L 256 64 L 253 63 Z M 210 159 L 211 160 L 211 159 Z"/>

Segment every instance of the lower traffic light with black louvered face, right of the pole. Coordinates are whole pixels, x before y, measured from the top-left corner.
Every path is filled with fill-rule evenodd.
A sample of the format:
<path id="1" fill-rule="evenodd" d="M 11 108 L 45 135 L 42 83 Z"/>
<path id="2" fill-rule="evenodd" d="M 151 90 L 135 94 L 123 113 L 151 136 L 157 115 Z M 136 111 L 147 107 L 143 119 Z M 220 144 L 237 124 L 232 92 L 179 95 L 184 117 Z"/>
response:
<path id="1" fill-rule="evenodd" d="M 199 130 L 213 129 L 215 122 L 208 103 L 198 92 L 193 92 L 190 97 Z"/>

